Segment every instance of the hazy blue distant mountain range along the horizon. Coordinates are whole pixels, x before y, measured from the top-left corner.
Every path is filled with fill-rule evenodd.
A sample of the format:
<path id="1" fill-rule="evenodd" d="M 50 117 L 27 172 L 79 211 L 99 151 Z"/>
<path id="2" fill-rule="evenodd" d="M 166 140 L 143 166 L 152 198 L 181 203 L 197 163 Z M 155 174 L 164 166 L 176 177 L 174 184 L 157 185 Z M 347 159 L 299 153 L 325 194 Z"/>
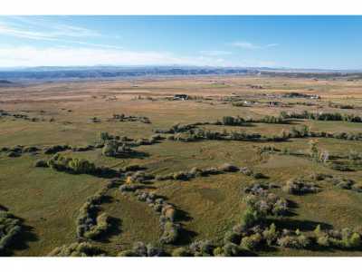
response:
<path id="1" fill-rule="evenodd" d="M 117 79 L 129 77 L 195 76 L 195 75 L 284 75 L 292 77 L 362 77 L 361 71 L 288 69 L 268 67 L 195 67 L 195 66 L 43 66 L 1 68 L 0 83 L 27 81 L 65 81 Z"/>

